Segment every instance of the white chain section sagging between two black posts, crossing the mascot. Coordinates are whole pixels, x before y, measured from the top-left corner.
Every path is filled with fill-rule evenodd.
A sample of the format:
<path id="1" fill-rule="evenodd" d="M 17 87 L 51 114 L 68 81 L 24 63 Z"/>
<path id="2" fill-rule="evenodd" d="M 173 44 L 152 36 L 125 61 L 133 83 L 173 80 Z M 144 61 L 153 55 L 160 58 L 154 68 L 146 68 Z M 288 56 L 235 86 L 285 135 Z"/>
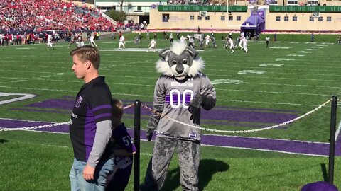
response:
<path id="1" fill-rule="evenodd" d="M 301 118 L 307 116 L 307 115 L 310 115 L 311 113 L 319 110 L 320 108 L 322 108 L 323 106 L 325 106 L 327 103 L 330 103 L 332 99 L 326 101 L 325 103 L 323 103 L 322 105 L 319 105 L 317 108 L 314 108 L 313 110 L 310 110 L 309 112 L 306 112 L 305 114 L 299 116 L 299 117 L 296 117 L 295 119 L 293 120 L 289 120 L 287 122 L 282 122 L 281 124 L 278 124 L 278 125 L 273 125 L 273 126 L 270 126 L 270 127 L 263 127 L 263 128 L 260 128 L 260 129 L 251 129 L 251 130 L 240 130 L 240 131 L 228 131 L 228 130 L 219 130 L 219 129 L 209 129 L 209 128 L 205 128 L 205 127 L 200 127 L 199 125 L 190 125 L 190 124 L 187 124 L 185 122 L 180 122 L 178 120 L 175 120 L 171 117 L 168 117 L 167 115 L 163 115 L 161 114 L 160 112 L 156 112 L 156 110 L 153 110 L 151 108 L 148 108 L 146 105 L 142 105 L 142 107 L 144 107 L 146 110 L 149 110 L 153 113 L 155 113 L 156 115 L 160 115 L 161 117 L 166 117 L 168 120 L 171 120 L 173 122 L 177 122 L 181 125 L 185 125 L 185 126 L 188 126 L 188 127 L 193 127 L 195 129 L 200 129 L 200 130 L 204 130 L 204 131 L 209 131 L 209 132 L 220 132 L 220 133 L 249 133 L 249 132 L 260 132 L 260 131 L 263 131 L 263 130 L 267 130 L 267 129 L 274 129 L 276 127 L 281 127 L 283 125 L 288 125 L 289 123 L 291 122 L 294 122 L 296 120 L 300 120 Z"/>

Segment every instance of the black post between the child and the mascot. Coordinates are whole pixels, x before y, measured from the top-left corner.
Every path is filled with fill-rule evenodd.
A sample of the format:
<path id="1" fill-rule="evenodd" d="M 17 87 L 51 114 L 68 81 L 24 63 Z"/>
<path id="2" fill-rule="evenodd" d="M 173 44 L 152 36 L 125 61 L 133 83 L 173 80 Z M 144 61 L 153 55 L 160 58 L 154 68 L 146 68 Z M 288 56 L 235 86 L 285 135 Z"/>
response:
<path id="1" fill-rule="evenodd" d="M 136 154 L 134 155 L 134 191 L 140 190 L 140 129 L 141 129 L 141 102 L 136 100 L 134 109 L 134 144 Z"/>

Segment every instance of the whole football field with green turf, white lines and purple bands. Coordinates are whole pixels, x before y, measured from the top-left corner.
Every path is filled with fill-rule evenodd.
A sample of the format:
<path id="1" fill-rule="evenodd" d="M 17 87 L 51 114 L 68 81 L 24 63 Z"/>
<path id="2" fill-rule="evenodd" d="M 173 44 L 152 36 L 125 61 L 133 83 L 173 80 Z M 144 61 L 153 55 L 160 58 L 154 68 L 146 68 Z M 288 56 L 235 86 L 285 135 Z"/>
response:
<path id="1" fill-rule="evenodd" d="M 141 40 L 139 48 L 128 38 L 125 50 L 117 49 L 118 40 L 96 43 L 101 54 L 99 73 L 106 76 L 112 96 L 124 105 L 138 99 L 152 108 L 160 76 L 155 63 L 160 57 L 146 52 L 149 40 Z M 203 73 L 217 91 L 216 107 L 202 110 L 200 189 L 299 190 L 305 183 L 326 180 L 328 100 L 341 94 L 341 45 L 270 42 L 267 48 L 264 41 L 250 41 L 249 52 L 237 47 L 233 54 L 222 48 L 222 41 L 217 45 L 199 52 L 205 60 Z M 168 40 L 157 40 L 159 50 L 166 47 Z M 55 50 L 46 45 L 0 47 L 0 127 L 70 120 L 83 83 L 71 70 L 70 50 L 66 42 L 56 43 Z M 141 129 L 150 114 L 141 108 Z M 340 114 L 337 110 L 338 187 Z M 301 115 L 305 117 L 285 123 Z M 134 127 L 134 108 L 125 110 L 123 121 Z M 0 131 L 0 184 L 4 185 L 0 190 L 70 190 L 72 146 L 67 133 L 67 125 Z M 141 183 L 152 146 L 153 142 L 141 141 Z M 178 170 L 174 156 L 165 190 L 181 190 Z M 132 176 L 127 190 L 132 190 Z"/>

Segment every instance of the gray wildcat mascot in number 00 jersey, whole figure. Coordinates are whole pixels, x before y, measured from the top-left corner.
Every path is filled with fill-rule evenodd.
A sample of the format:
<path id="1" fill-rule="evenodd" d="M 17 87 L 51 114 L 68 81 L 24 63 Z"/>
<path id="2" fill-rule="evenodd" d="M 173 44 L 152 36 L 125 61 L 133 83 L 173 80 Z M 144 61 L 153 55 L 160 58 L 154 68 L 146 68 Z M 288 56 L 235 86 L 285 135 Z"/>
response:
<path id="1" fill-rule="evenodd" d="M 154 90 L 153 110 L 162 115 L 152 113 L 148 121 L 147 139 L 151 140 L 154 130 L 156 139 L 141 190 L 161 190 L 175 149 L 183 190 L 198 190 L 200 108 L 215 107 L 216 93 L 210 79 L 201 73 L 204 61 L 197 54 L 182 42 L 159 52 L 156 69 L 161 76 Z"/>

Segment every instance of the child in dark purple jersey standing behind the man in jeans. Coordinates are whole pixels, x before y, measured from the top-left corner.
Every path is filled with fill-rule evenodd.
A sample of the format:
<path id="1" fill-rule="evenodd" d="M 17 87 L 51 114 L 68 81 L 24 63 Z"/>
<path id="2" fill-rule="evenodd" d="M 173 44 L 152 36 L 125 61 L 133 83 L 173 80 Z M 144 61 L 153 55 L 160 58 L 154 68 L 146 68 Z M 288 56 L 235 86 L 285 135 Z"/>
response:
<path id="1" fill-rule="evenodd" d="M 115 165 L 117 171 L 112 173 L 106 191 L 124 191 L 128 185 L 131 168 L 133 163 L 133 154 L 136 153 L 136 147 L 131 141 L 131 137 L 126 132 L 124 123 L 121 122 L 123 115 L 123 103 L 121 100 L 112 100 L 112 140 L 114 142 Z"/>

